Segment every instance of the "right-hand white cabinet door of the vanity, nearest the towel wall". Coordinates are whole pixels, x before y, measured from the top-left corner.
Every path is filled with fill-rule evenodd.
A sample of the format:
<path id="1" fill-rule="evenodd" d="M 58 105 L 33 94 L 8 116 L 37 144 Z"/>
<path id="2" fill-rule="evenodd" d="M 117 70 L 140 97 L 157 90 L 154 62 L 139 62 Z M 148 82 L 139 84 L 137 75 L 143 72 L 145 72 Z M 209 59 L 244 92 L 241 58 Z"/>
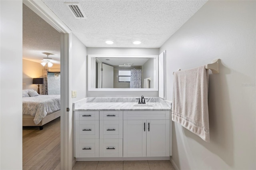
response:
<path id="1" fill-rule="evenodd" d="M 147 156 L 169 156 L 169 120 L 147 121 Z"/>

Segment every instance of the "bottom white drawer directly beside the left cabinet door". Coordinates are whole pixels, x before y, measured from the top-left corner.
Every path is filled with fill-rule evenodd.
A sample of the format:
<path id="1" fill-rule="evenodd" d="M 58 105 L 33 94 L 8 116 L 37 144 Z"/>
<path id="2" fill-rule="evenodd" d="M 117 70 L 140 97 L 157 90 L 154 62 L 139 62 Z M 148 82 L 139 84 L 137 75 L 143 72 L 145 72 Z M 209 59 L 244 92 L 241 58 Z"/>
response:
<path id="1" fill-rule="evenodd" d="M 100 139 L 100 157 L 122 157 L 122 139 Z"/>

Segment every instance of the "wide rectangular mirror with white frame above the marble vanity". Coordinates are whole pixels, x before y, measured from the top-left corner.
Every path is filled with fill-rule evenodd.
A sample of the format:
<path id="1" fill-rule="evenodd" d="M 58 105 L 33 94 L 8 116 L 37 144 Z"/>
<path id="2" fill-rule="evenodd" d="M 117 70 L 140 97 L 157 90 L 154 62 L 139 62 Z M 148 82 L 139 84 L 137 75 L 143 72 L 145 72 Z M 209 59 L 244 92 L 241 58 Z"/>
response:
<path id="1" fill-rule="evenodd" d="M 88 91 L 158 91 L 158 55 L 88 55 Z"/>

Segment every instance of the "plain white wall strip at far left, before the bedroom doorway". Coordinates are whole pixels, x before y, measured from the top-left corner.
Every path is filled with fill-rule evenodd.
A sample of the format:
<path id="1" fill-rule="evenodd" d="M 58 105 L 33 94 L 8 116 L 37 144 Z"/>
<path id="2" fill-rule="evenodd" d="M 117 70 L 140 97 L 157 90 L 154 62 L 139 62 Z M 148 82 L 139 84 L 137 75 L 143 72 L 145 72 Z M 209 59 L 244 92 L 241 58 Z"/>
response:
<path id="1" fill-rule="evenodd" d="M 22 169 L 22 1 L 0 1 L 0 25 L 0 169 L 20 170 Z"/>

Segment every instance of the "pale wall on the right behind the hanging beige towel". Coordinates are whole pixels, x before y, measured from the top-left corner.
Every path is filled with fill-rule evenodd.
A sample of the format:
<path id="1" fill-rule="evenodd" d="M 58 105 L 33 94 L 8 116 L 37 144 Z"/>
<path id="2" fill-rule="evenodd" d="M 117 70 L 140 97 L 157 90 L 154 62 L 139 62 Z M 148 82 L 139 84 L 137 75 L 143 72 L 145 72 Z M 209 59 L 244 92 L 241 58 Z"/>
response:
<path id="1" fill-rule="evenodd" d="M 220 58 L 209 71 L 210 143 L 172 127 L 172 160 L 180 170 L 256 169 L 256 1 L 208 1 L 160 47 L 166 49 L 167 99 L 172 72 Z"/>

